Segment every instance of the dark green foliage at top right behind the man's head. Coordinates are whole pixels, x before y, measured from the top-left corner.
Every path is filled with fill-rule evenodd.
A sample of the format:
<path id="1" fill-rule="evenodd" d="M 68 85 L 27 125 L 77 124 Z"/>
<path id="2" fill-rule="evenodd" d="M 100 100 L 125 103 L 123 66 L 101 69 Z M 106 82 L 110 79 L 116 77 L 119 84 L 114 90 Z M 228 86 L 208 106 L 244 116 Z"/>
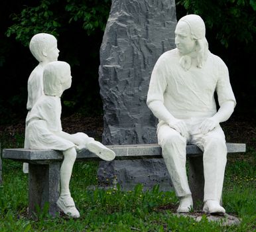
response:
<path id="1" fill-rule="evenodd" d="M 200 15 L 227 48 L 230 40 L 248 44 L 256 35 L 255 0 L 180 0 L 188 13 Z"/>

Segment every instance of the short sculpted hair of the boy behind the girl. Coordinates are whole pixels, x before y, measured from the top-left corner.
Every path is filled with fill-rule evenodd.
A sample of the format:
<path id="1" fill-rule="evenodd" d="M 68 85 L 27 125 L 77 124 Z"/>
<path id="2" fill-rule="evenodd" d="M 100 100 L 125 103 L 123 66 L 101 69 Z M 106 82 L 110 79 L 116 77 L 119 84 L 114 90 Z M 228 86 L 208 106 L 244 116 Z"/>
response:
<path id="1" fill-rule="evenodd" d="M 47 52 L 57 40 L 52 34 L 39 33 L 35 34 L 31 38 L 29 43 L 29 49 L 36 60 L 41 62 L 43 60 L 42 52 Z"/>

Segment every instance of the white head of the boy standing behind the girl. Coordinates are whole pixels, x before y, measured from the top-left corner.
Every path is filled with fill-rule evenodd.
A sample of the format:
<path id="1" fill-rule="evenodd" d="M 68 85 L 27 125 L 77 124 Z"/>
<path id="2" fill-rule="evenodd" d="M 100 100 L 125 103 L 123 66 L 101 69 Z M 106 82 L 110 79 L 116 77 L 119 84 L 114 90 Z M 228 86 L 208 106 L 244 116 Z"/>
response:
<path id="1" fill-rule="evenodd" d="M 38 62 L 58 60 L 57 40 L 52 34 L 39 33 L 31 38 L 29 49 Z"/>

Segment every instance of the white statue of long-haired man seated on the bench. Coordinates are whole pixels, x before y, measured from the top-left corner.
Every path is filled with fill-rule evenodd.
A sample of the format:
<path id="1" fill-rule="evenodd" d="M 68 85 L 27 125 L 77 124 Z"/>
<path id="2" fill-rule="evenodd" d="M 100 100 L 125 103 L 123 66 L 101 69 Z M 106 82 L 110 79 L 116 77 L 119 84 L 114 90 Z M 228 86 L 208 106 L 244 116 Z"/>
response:
<path id="1" fill-rule="evenodd" d="M 219 123 L 229 119 L 236 102 L 227 67 L 208 50 L 205 34 L 204 21 L 198 15 L 186 15 L 178 21 L 176 48 L 157 60 L 147 95 L 147 105 L 159 119 L 157 137 L 180 198 L 179 213 L 186 213 L 193 206 L 186 175 L 188 143 L 204 151 L 203 210 L 225 213 L 220 200 L 227 148 Z"/>

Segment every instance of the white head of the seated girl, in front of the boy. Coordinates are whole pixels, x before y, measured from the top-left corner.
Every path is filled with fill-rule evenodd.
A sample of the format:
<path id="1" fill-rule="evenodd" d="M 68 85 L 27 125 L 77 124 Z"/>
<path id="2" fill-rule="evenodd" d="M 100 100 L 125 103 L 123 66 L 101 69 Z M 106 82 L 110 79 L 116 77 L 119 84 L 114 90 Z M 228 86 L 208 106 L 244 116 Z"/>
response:
<path id="1" fill-rule="evenodd" d="M 65 89 L 70 88 L 72 76 L 70 65 L 63 61 L 46 64 L 43 72 L 44 94 L 61 96 Z"/>

